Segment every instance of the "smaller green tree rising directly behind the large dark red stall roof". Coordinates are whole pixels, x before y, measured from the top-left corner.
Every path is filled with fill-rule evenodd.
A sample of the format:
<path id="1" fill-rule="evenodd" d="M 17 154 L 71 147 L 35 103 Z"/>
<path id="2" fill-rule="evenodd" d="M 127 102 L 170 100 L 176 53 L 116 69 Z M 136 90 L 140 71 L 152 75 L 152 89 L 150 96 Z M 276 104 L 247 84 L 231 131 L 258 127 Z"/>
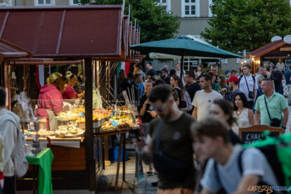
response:
<path id="1" fill-rule="evenodd" d="M 92 4 L 122 4 L 122 0 L 95 0 Z M 125 14 L 131 6 L 131 21 L 141 26 L 141 42 L 174 38 L 180 27 L 178 18 L 164 11 L 155 0 L 126 0 Z"/>

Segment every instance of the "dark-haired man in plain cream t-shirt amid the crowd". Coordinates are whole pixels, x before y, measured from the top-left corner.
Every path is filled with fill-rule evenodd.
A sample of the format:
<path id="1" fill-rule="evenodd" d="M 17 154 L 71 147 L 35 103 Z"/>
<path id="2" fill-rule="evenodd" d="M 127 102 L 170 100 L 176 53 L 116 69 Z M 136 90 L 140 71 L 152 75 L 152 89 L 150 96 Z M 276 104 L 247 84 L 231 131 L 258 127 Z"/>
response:
<path id="1" fill-rule="evenodd" d="M 198 121 L 209 115 L 210 105 L 216 99 L 222 99 L 222 96 L 217 91 L 211 88 L 212 77 L 208 74 L 200 76 L 199 85 L 202 90 L 196 91 L 192 105 L 194 110 L 192 116 Z"/>

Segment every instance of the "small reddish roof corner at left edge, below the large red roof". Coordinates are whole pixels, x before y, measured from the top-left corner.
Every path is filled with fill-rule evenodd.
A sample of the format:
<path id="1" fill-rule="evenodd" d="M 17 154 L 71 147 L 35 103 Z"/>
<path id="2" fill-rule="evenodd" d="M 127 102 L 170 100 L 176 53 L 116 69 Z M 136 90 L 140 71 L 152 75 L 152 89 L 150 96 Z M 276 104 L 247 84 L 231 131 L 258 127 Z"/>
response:
<path id="1" fill-rule="evenodd" d="M 30 58 L 32 55 L 33 53 L 25 50 L 25 48 L 0 39 L 0 63 L 3 62 L 4 58 Z"/>

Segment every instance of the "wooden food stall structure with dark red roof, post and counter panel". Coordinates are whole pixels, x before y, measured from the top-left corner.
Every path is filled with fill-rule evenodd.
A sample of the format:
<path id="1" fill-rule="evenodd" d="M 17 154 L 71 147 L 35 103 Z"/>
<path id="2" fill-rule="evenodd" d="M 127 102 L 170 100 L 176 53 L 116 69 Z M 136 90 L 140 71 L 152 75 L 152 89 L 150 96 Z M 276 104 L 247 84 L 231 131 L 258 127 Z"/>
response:
<path id="1" fill-rule="evenodd" d="M 124 5 L 0 8 L 0 39 L 27 49 L 18 56 L 19 60 L 11 56 L 1 61 L 1 75 L 13 65 L 22 65 L 24 75 L 33 75 L 33 67 L 41 64 L 82 63 L 84 66 L 84 141 L 80 141 L 80 148 L 52 146 L 53 189 L 96 190 L 98 178 L 103 173 L 102 141 L 93 134 L 93 97 L 88 94 L 92 93 L 95 80 L 106 80 L 107 84 L 98 84 L 102 90 L 103 86 L 110 84 L 110 75 L 116 75 L 116 67 L 110 67 L 115 65 L 114 61 L 134 60 L 138 63 L 142 59 L 142 56 L 134 58 L 129 55 L 130 37 L 134 36 L 134 43 L 137 43 L 140 31 L 136 27 L 129 30 L 133 27 L 129 25 L 129 16 L 124 18 L 123 12 Z M 19 50 L 22 51 L 20 47 Z M 32 53 L 33 59 L 24 58 L 32 57 Z M 1 85 L 6 86 L 8 80 L 2 79 Z M 28 84 L 33 88 L 32 83 L 25 83 L 25 86 Z M 7 89 L 10 93 L 9 84 Z M 108 100 L 110 96 L 105 93 L 104 98 Z M 27 183 L 18 183 L 17 186 L 18 189 L 30 189 Z"/>

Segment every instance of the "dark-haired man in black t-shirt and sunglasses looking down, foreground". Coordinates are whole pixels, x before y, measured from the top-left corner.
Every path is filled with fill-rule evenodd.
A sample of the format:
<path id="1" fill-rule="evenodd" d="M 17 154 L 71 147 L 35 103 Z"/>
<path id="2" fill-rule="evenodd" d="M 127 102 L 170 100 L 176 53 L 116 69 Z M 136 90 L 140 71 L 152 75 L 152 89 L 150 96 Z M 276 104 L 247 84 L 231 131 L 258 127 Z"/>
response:
<path id="1" fill-rule="evenodd" d="M 195 168 L 190 125 L 195 119 L 179 110 L 167 84 L 154 87 L 149 101 L 159 117 L 150 122 L 146 144 L 142 138 L 134 141 L 136 151 L 145 163 L 153 162 L 159 172 L 158 194 L 193 194 Z"/>

